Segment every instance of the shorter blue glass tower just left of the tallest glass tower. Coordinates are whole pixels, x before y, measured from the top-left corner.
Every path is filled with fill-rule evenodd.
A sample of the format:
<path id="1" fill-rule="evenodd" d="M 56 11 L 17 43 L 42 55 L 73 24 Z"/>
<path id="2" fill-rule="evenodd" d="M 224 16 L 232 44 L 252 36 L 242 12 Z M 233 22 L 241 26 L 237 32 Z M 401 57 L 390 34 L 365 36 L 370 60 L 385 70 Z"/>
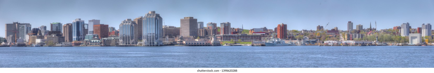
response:
<path id="1" fill-rule="evenodd" d="M 135 26 L 137 26 L 137 24 L 131 19 L 122 21 L 122 23 L 119 25 L 120 45 L 137 44 L 138 36 L 135 34 Z"/>

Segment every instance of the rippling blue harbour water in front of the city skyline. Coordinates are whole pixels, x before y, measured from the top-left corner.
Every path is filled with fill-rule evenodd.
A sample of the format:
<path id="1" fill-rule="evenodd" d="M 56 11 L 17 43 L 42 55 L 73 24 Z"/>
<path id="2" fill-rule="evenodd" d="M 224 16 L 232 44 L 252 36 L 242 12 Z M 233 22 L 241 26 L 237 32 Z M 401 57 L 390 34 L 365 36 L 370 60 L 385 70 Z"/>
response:
<path id="1" fill-rule="evenodd" d="M 434 67 L 434 46 L 0 47 L 0 67 Z"/>

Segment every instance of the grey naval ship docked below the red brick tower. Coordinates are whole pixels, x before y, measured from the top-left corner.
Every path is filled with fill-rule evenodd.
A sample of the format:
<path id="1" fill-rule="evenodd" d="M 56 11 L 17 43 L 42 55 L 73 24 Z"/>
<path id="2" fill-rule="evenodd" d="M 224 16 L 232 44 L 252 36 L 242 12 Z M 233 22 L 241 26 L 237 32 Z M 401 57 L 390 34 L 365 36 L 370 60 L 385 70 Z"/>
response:
<path id="1" fill-rule="evenodd" d="M 271 40 L 265 42 L 265 46 L 296 46 L 296 44 L 292 42 L 286 43 L 283 40 L 280 40 L 279 38 L 271 38 Z"/>

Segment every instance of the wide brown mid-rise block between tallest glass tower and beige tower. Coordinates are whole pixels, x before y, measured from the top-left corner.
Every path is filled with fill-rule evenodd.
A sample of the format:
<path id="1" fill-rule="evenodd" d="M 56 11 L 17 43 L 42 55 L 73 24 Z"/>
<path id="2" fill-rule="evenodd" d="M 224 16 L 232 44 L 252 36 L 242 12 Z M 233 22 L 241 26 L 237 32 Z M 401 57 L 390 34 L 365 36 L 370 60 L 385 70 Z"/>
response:
<path id="1" fill-rule="evenodd" d="M 163 27 L 163 36 L 177 36 L 180 35 L 180 28 L 175 26 L 164 25 Z"/>

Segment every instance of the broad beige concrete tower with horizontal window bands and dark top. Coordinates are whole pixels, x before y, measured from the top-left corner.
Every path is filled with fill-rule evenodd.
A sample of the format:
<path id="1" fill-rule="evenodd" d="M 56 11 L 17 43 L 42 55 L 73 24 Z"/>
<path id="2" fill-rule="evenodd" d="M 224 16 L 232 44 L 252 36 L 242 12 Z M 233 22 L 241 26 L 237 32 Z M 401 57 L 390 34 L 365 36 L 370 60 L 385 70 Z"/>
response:
<path id="1" fill-rule="evenodd" d="M 193 17 L 184 17 L 184 19 L 181 19 L 181 35 L 184 37 L 197 36 L 197 19 Z"/>

